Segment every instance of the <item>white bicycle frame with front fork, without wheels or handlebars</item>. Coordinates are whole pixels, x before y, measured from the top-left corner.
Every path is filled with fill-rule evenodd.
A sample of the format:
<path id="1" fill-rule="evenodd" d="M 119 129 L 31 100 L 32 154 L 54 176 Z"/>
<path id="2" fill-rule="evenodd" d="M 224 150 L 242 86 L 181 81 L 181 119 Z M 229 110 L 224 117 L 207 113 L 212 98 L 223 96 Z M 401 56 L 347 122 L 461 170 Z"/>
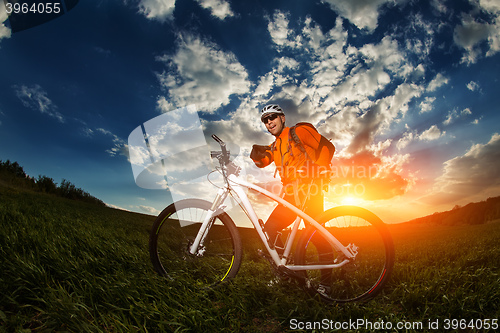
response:
<path id="1" fill-rule="evenodd" d="M 238 197 L 239 201 L 238 204 L 241 206 L 241 208 L 245 211 L 247 216 L 249 217 L 250 221 L 252 222 L 255 230 L 257 231 L 259 237 L 262 240 L 262 243 L 266 247 L 268 253 L 270 254 L 271 258 L 273 259 L 274 263 L 276 264 L 277 267 L 284 266 L 285 268 L 289 270 L 305 270 L 305 269 L 328 269 L 328 268 L 339 268 L 351 260 L 353 260 L 357 252 L 355 249 L 349 247 L 349 246 L 343 246 L 331 233 L 328 232 L 328 230 L 325 229 L 321 224 L 319 224 L 317 221 L 315 221 L 312 217 L 309 215 L 305 214 L 302 210 L 297 208 L 295 205 L 287 202 L 283 198 L 280 198 L 279 196 L 275 195 L 274 193 L 271 193 L 267 191 L 266 189 L 254 185 L 252 183 L 249 183 L 241 178 L 238 178 L 234 174 L 229 174 L 228 176 L 224 175 L 226 178 L 226 185 L 222 188 L 219 189 L 217 192 L 217 195 L 212 203 L 212 207 L 208 211 L 207 216 L 205 217 L 200 230 L 198 231 L 198 234 L 190 248 L 190 253 L 195 254 L 198 247 L 200 245 L 203 245 L 203 241 L 205 236 L 207 235 L 207 229 L 210 228 L 211 226 L 211 221 L 213 221 L 213 218 L 219 214 L 221 210 L 224 209 L 223 203 L 225 199 L 227 198 L 228 194 L 233 191 L 236 196 Z M 244 188 L 249 188 L 254 191 L 257 191 L 264 196 L 272 199 L 273 201 L 278 202 L 279 204 L 282 204 L 286 208 L 292 210 L 294 213 L 298 215 L 298 217 L 295 219 L 292 225 L 292 231 L 290 234 L 290 237 L 287 239 L 285 242 L 285 249 L 283 253 L 283 257 L 280 258 L 278 252 L 276 249 L 271 248 L 268 241 L 267 237 L 264 233 L 263 228 L 261 227 L 259 223 L 259 218 L 257 217 L 257 214 L 255 213 L 252 204 L 250 203 L 250 200 L 248 199 L 247 194 L 245 193 Z M 306 223 L 312 225 L 332 246 L 333 248 L 337 251 L 340 252 L 344 255 L 344 260 L 340 263 L 337 264 L 324 264 L 324 265 L 293 265 L 293 264 L 287 264 L 287 258 L 292 250 L 292 244 L 293 241 L 297 235 L 299 225 L 301 220 L 304 220 Z"/>

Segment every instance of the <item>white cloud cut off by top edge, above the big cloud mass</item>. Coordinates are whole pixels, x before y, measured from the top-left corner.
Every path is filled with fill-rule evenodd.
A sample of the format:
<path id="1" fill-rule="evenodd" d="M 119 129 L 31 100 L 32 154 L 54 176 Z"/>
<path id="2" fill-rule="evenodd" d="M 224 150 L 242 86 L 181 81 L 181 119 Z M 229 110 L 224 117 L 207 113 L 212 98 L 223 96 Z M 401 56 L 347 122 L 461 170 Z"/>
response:
<path id="1" fill-rule="evenodd" d="M 385 4 L 395 4 L 393 0 L 323 0 L 339 15 L 348 19 L 359 29 L 375 30 L 379 9 Z"/>

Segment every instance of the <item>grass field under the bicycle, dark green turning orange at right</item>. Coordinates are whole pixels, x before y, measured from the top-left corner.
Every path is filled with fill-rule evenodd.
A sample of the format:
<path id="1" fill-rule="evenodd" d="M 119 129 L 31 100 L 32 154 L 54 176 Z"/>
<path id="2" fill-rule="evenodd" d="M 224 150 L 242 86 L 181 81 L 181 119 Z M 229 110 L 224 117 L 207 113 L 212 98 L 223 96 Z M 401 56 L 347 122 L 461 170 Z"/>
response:
<path id="1" fill-rule="evenodd" d="M 149 262 L 153 220 L 0 184 L 0 332 L 281 332 L 342 324 L 342 332 L 454 325 L 483 332 L 480 325 L 494 331 L 499 319 L 499 222 L 391 226 L 396 264 L 384 292 L 367 303 L 326 306 L 294 284 L 269 285 L 273 273 L 249 230 L 232 283 L 199 292 L 166 281 Z"/>

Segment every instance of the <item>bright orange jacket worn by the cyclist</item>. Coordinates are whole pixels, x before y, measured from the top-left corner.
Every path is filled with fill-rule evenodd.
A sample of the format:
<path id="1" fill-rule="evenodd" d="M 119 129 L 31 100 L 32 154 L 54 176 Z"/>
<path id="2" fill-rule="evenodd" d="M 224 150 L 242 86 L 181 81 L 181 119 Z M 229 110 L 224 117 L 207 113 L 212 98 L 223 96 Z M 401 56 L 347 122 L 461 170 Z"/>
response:
<path id="1" fill-rule="evenodd" d="M 295 145 L 295 142 L 290 144 L 288 140 L 289 132 L 290 128 L 285 127 L 276 138 L 276 141 L 269 145 L 270 152 L 268 151 L 265 157 L 259 160 L 253 160 L 259 168 L 264 168 L 274 162 L 284 185 L 299 178 L 297 171 L 302 169 L 308 162 L 306 156 Z M 324 140 L 328 141 L 325 137 L 309 126 L 297 126 L 295 133 L 303 143 L 307 155 L 315 164 L 328 165 L 330 163 L 332 145 L 325 144 Z"/>

